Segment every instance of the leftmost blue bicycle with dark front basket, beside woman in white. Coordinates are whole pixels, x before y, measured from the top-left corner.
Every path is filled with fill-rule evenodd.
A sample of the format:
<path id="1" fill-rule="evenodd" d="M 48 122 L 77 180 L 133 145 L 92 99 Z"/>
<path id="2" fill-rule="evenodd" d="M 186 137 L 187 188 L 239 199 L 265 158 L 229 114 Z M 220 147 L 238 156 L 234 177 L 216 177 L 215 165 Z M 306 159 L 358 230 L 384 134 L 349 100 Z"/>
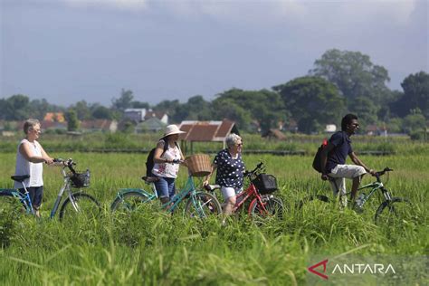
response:
<path id="1" fill-rule="evenodd" d="M 90 170 L 86 170 L 84 173 L 78 173 L 73 166 L 76 165 L 72 159 L 62 160 L 54 159 L 57 164 L 62 164 L 62 176 L 64 183 L 58 192 L 57 199 L 52 207 L 51 218 L 54 217 L 58 209 L 60 209 L 60 220 L 65 217 L 74 219 L 76 215 L 85 215 L 87 217 L 95 217 L 100 215 L 100 203 L 91 195 L 85 194 L 81 188 L 90 186 Z M 70 172 L 67 172 L 68 169 Z M 11 176 L 11 178 L 21 183 L 24 188 L 24 193 L 21 193 L 18 189 L 14 188 L 2 188 L 0 189 L 0 211 L 9 214 L 15 213 L 26 213 L 35 215 L 33 204 L 26 187 L 24 186 L 24 180 L 29 178 L 29 175 L 25 176 Z M 79 189 L 77 192 L 71 189 Z M 67 198 L 62 203 L 62 196 L 67 194 Z"/>

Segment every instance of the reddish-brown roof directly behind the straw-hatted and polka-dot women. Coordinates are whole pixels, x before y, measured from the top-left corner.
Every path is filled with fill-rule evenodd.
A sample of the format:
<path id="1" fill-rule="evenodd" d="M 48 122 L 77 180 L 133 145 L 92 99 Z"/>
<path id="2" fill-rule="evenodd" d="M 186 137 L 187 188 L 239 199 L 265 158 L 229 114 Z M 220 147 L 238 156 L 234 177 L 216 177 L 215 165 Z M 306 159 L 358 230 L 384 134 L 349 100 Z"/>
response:
<path id="1" fill-rule="evenodd" d="M 224 138 L 233 129 L 236 133 L 235 122 L 228 119 L 222 121 L 186 120 L 180 123 L 179 128 L 186 133 L 180 135 L 185 141 L 224 141 Z"/>

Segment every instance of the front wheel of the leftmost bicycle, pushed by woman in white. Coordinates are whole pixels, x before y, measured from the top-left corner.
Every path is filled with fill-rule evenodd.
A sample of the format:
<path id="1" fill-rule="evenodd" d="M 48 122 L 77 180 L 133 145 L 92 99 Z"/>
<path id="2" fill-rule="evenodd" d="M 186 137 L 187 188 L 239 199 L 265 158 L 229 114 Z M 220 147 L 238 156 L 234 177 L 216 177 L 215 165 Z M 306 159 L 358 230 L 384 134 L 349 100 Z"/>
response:
<path id="1" fill-rule="evenodd" d="M 71 203 L 70 197 L 68 197 L 62 204 L 60 220 L 64 217 L 67 217 L 67 219 L 77 217 L 93 219 L 100 215 L 100 204 L 94 197 L 83 193 L 74 193 L 72 196 L 75 206 Z"/>

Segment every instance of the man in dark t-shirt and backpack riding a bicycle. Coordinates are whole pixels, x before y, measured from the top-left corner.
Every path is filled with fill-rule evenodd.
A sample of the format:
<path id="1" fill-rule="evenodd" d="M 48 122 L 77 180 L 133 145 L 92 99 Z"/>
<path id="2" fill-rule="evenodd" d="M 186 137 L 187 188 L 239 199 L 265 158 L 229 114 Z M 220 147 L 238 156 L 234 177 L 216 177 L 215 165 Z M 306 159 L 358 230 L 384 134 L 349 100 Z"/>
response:
<path id="1" fill-rule="evenodd" d="M 354 201 L 360 180 L 367 173 L 372 175 L 375 172 L 368 168 L 351 148 L 350 136 L 356 133 L 359 129 L 358 117 L 354 114 L 348 114 L 341 120 L 341 131 L 334 133 L 329 138 L 328 145 L 323 148 L 321 153 L 322 180 L 327 180 L 329 177 L 330 184 L 334 191 L 334 195 L 340 195 L 341 205 L 347 205 L 346 194 L 346 178 L 352 179 L 351 200 Z M 346 165 L 346 158 L 350 159 L 356 165 Z"/>

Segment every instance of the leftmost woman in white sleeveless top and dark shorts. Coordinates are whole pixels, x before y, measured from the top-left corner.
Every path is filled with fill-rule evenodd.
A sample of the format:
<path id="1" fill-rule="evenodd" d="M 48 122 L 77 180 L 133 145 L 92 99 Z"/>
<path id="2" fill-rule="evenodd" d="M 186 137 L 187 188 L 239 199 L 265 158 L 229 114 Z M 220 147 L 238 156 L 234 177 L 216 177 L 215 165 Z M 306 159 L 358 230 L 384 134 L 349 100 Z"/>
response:
<path id="1" fill-rule="evenodd" d="M 24 180 L 24 186 L 30 193 L 36 216 L 40 216 L 39 208 L 43 197 L 43 163 L 52 165 L 53 159 L 44 151 L 37 141 L 41 133 L 37 119 L 27 119 L 24 123 L 25 138 L 21 140 L 16 152 L 15 176 L 30 175 Z M 25 192 L 21 183 L 14 182 L 14 188 Z"/>

